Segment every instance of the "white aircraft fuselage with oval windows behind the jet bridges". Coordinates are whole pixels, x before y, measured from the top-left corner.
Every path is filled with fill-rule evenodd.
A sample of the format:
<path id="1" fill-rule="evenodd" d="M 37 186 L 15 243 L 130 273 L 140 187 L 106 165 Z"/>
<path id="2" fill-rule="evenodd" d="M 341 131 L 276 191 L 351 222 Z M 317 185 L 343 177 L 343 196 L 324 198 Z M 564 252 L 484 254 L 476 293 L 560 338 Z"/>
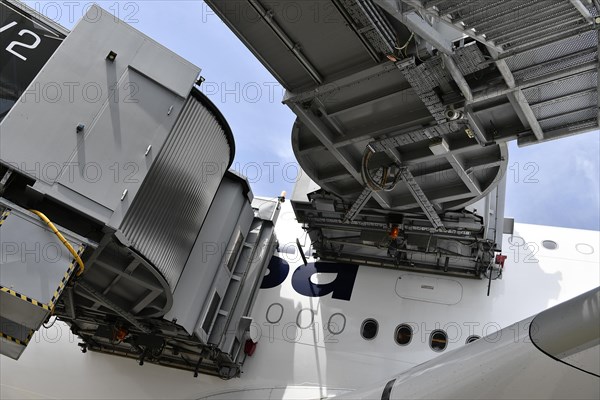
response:
<path id="1" fill-rule="evenodd" d="M 296 238 L 303 241 L 304 232 L 288 203 L 283 205 L 277 235 L 279 252 L 271 261 L 253 309 L 251 335 L 257 346 L 247 357 L 240 378 L 194 378 L 189 371 L 149 363 L 139 366 L 132 359 L 93 352 L 81 354 L 77 337 L 57 322 L 36 334 L 19 361 L 0 359 L 1 397 L 241 399 L 340 395 L 368 388 L 429 360 L 426 365 L 431 368 L 440 355 L 446 363 L 464 361 L 464 346 L 471 337 L 482 339 L 468 349 L 487 346 L 492 353 L 504 356 L 513 351 L 535 353 L 528 340 L 528 320 L 518 322 L 594 289 L 599 282 L 600 241 L 594 231 L 516 224 L 514 234 L 504 237 L 503 253 L 508 258 L 502 279 L 491 282 L 489 296 L 487 279 L 333 263 L 323 269 L 323 263 L 315 264 L 312 258 L 304 265 L 295 246 Z M 552 240 L 558 247 L 547 249 L 542 245 L 544 240 Z M 315 273 L 319 270 L 329 272 Z M 366 320 L 377 323 L 371 339 L 361 336 Z M 400 325 L 412 328 L 412 336 L 404 345 L 395 340 Z M 432 348 L 434 331 L 446 333 L 441 351 Z M 438 339 L 433 337 L 437 350 Z M 461 348 L 462 353 L 453 351 Z M 494 358 L 472 357 L 479 363 L 479 367 L 471 365 L 473 370 L 503 373 L 494 371 Z M 536 357 L 520 357 L 515 363 L 533 362 Z M 440 380 L 453 376 L 453 369 L 443 365 L 436 372 Z M 519 374 L 513 375 L 519 378 Z M 598 382 L 595 376 L 587 379 Z M 381 392 L 377 387 L 374 390 Z M 532 396 L 536 387 L 532 382 Z M 595 393 L 580 389 L 582 397 Z M 454 395 L 457 393 L 460 390 Z M 488 395 L 497 398 L 502 393 L 490 391 Z M 551 393 L 545 391 L 544 396 Z M 432 392 L 424 395 L 434 396 Z M 578 397 L 578 393 L 573 396 Z"/>

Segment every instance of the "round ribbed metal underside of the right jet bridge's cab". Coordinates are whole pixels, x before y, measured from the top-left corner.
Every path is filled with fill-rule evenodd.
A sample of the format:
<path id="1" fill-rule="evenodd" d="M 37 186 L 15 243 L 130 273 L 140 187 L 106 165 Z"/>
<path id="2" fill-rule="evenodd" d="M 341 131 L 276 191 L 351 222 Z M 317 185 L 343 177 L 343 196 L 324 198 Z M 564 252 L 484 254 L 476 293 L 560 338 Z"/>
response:
<path id="1" fill-rule="evenodd" d="M 400 156 L 402 165 L 410 170 L 438 213 L 460 209 L 481 199 L 498 185 L 507 168 L 505 143 L 483 147 L 469 137 L 465 129 L 425 140 L 418 140 L 412 132 L 393 135 L 417 139 L 394 147 L 393 151 Z M 365 149 L 373 140 L 371 137 L 340 137 L 328 146 L 299 120 L 292 131 L 292 146 L 302 169 L 321 188 L 350 204 L 365 188 L 361 163 Z M 438 149 L 440 146 L 444 146 L 442 151 Z M 369 169 L 374 173 L 393 163 L 389 153 L 378 152 L 369 161 Z M 377 197 L 372 198 L 367 207 L 400 212 L 419 210 L 416 199 L 402 180 L 391 191 L 377 192 Z"/>

